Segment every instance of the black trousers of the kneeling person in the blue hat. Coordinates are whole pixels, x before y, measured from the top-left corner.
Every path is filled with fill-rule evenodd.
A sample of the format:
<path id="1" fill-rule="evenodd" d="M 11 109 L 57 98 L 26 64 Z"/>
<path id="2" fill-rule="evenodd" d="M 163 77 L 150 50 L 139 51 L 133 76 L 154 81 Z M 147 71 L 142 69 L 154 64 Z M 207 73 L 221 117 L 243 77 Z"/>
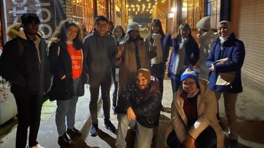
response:
<path id="1" fill-rule="evenodd" d="M 208 126 L 196 138 L 196 148 L 216 148 L 216 134 L 212 127 Z M 172 130 L 167 139 L 170 148 L 184 148 L 184 145 L 178 139 L 175 130 Z"/>

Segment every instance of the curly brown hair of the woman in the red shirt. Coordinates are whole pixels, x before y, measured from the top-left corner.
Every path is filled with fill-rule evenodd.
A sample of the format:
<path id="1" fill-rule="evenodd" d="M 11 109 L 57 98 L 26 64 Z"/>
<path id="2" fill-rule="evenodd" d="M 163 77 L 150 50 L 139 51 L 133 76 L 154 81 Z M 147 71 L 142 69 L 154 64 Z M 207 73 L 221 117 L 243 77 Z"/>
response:
<path id="1" fill-rule="evenodd" d="M 52 34 L 51 41 L 59 40 L 61 45 L 66 46 L 67 31 L 68 31 L 68 28 L 71 26 L 75 26 L 78 28 L 77 36 L 75 39 L 73 39 L 73 46 L 78 50 L 82 48 L 82 30 L 80 29 L 79 25 L 77 25 L 72 20 L 61 21 L 60 25 L 56 27 L 54 34 Z"/>

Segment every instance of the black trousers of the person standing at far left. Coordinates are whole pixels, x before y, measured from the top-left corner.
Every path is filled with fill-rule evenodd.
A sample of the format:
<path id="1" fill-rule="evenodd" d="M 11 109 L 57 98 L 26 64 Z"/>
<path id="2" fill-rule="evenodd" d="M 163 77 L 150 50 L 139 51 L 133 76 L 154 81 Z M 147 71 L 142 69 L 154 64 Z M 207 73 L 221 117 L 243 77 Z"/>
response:
<path id="1" fill-rule="evenodd" d="M 16 130 L 15 147 L 25 148 L 27 144 L 27 128 L 30 128 L 29 146 L 37 144 L 40 116 L 42 111 L 42 97 L 39 95 L 14 95 L 18 107 L 18 128 Z"/>

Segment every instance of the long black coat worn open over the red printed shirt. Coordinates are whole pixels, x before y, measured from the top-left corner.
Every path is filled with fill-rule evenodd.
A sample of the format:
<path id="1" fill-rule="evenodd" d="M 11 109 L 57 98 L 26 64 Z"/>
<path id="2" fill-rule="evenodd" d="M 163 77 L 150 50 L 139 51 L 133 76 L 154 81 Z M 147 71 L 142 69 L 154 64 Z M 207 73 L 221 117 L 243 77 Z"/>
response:
<path id="1" fill-rule="evenodd" d="M 59 45 L 60 51 L 58 52 Z M 65 43 L 61 43 L 59 41 L 51 43 L 51 46 L 49 47 L 49 60 L 51 74 L 54 75 L 53 85 L 51 87 L 51 96 L 54 97 L 55 100 L 70 100 L 73 99 L 75 95 L 84 95 L 86 70 L 83 66 L 82 75 L 80 76 L 80 85 L 78 86 L 79 88 L 77 88 L 77 94 L 74 94 L 72 60 Z M 82 65 L 84 65 L 84 58 Z M 65 79 L 61 80 L 61 77 L 64 75 L 66 76 Z"/>

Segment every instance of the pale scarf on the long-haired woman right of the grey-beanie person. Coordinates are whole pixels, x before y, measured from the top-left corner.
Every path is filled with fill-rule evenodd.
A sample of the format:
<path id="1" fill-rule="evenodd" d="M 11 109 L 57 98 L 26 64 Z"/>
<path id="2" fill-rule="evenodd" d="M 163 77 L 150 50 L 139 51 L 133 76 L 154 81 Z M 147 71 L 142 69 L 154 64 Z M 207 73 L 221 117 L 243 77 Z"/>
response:
<path id="1" fill-rule="evenodd" d="M 152 34 L 154 40 L 153 46 L 157 46 L 157 56 L 151 59 L 151 65 L 156 65 L 163 62 L 162 45 L 161 45 L 161 34 Z"/>

